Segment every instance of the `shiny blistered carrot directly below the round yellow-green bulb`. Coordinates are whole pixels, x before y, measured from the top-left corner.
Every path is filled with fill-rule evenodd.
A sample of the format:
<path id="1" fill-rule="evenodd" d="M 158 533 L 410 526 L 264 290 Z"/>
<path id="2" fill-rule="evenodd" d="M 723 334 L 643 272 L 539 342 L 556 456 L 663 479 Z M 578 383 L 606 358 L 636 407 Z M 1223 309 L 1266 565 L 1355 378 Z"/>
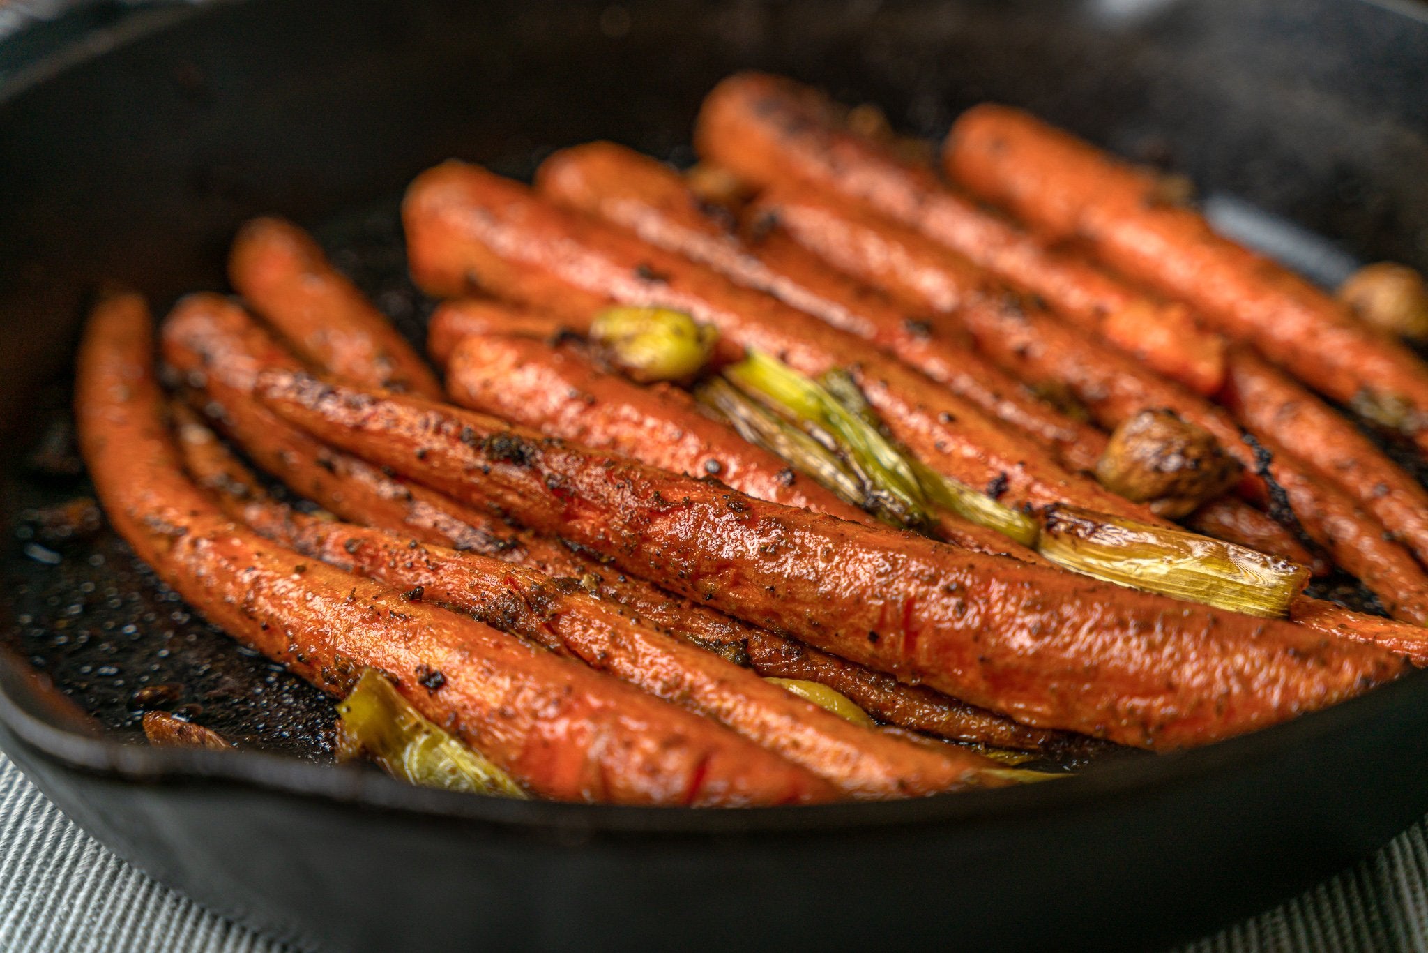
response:
<path id="1" fill-rule="evenodd" d="M 705 417 L 683 391 L 645 389 L 601 373 L 570 346 L 551 347 L 528 337 L 468 337 L 447 363 L 447 390 L 463 407 L 661 470 L 714 477 L 760 500 L 873 522 Z"/>

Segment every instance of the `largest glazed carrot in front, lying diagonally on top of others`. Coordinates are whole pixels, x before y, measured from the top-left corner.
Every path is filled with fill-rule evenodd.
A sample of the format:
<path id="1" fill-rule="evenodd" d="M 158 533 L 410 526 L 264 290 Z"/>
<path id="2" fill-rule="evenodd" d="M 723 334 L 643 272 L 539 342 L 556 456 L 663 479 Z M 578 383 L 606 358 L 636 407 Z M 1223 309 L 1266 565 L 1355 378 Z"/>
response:
<path id="1" fill-rule="evenodd" d="M 443 404 L 290 371 L 258 394 L 458 499 L 478 482 L 527 526 L 687 597 L 1041 727 L 1184 747 L 1402 672 L 1374 646 L 764 503 Z"/>

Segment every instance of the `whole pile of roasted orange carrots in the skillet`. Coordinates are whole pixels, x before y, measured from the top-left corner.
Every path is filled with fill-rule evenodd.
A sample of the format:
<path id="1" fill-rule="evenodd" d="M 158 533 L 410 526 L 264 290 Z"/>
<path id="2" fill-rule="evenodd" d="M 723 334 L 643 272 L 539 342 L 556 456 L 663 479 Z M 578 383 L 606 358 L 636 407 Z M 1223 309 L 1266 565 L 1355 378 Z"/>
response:
<path id="1" fill-rule="evenodd" d="M 1428 663 L 1428 493 L 1325 403 L 1428 449 L 1428 369 L 1385 331 L 1012 109 L 967 111 L 940 176 L 740 74 L 694 140 L 691 174 L 591 143 L 534 187 L 418 176 L 436 370 L 277 219 L 234 241 L 241 300 L 178 301 L 159 360 L 143 299 L 103 297 L 76 404 L 110 522 L 234 639 L 350 706 L 377 673 L 501 792 L 558 800 L 995 787 Z M 623 360 L 600 321 L 628 313 L 690 321 L 698 360 Z M 911 509 L 817 429 L 731 416 L 755 357 L 851 393 L 833 409 Z M 1054 532 L 1291 589 L 1259 614 L 1172 599 L 1155 567 L 1068 572 Z M 1329 570 L 1388 617 L 1299 592 Z"/>

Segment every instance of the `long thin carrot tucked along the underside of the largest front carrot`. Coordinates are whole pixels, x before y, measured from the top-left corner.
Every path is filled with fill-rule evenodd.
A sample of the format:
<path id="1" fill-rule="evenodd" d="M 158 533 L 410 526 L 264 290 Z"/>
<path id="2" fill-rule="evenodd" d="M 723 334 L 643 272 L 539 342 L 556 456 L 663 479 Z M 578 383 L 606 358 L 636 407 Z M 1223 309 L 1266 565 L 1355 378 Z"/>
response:
<path id="1" fill-rule="evenodd" d="M 293 367 L 293 359 L 241 309 L 223 299 L 184 301 L 164 329 L 164 350 L 190 379 L 203 374 L 208 401 L 217 404 L 254 461 L 271 466 L 300 493 L 306 487 L 308 496 L 344 519 L 424 543 L 494 556 L 547 576 L 580 579 L 593 594 L 683 639 L 725 654 L 743 652 L 760 674 L 827 684 L 894 724 L 994 747 L 1050 752 L 1080 746 L 1075 739 L 1017 724 L 927 689 L 898 684 L 885 674 L 745 626 L 641 579 L 611 572 L 553 539 L 506 526 L 478 509 L 418 484 L 400 483 L 313 441 L 253 401 L 257 371 L 264 366 Z M 228 473 L 207 489 L 228 492 L 226 487 L 243 486 L 240 476 Z"/>

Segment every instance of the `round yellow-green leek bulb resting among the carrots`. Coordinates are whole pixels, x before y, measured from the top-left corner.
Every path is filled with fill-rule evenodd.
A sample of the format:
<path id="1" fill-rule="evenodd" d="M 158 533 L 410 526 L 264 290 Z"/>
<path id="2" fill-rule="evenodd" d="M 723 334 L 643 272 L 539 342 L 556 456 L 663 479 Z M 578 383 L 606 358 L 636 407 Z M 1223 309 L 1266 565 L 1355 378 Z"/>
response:
<path id="1" fill-rule="evenodd" d="M 591 343 L 641 381 L 693 379 L 717 339 L 711 326 L 667 307 L 607 307 L 590 324 Z"/>

